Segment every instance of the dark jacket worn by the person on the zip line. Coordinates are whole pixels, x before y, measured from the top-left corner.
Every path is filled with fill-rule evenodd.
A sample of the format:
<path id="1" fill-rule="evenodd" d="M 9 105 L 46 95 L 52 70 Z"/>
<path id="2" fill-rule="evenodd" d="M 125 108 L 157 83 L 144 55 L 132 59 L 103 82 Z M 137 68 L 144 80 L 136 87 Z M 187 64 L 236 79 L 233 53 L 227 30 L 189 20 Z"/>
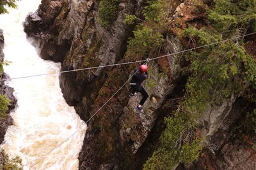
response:
<path id="1" fill-rule="evenodd" d="M 143 74 L 138 68 L 136 68 L 133 74 L 134 75 L 132 76 L 130 85 L 132 89 L 135 89 L 137 92 L 139 92 L 141 90 L 141 83 L 143 83 L 143 81 L 148 78 L 148 73 L 146 72 L 145 74 Z"/>

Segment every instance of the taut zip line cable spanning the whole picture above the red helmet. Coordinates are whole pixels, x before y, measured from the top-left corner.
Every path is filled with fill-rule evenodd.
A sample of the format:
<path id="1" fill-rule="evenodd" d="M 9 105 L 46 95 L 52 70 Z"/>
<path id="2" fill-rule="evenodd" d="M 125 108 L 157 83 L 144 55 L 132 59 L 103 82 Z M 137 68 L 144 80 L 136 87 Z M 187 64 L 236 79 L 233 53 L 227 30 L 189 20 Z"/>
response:
<path id="1" fill-rule="evenodd" d="M 222 40 L 222 41 L 216 41 L 215 43 L 210 43 L 210 44 L 207 44 L 207 45 L 197 46 L 195 48 L 189 48 L 188 50 L 182 50 L 182 51 L 179 51 L 179 52 L 174 52 L 174 53 L 169 53 L 169 54 L 166 54 L 166 55 L 161 55 L 159 57 L 154 57 L 154 58 L 149 59 L 149 60 L 156 60 L 156 59 L 160 59 L 160 58 L 163 58 L 163 57 L 168 57 L 170 55 L 175 55 L 175 54 L 179 54 L 179 53 L 183 53 L 183 52 L 188 52 L 188 51 L 191 51 L 191 50 L 196 50 L 198 48 L 204 48 L 205 46 L 216 45 L 218 43 L 224 43 L 224 42 L 230 41 L 232 39 L 242 38 L 244 36 L 250 36 L 250 35 L 253 35 L 253 34 L 256 34 L 256 32 L 252 32 L 250 34 L 244 34 L 243 36 L 236 36 L 234 38 L 229 38 L 229 39 L 225 39 L 225 40 Z M 125 64 L 134 64 L 134 63 L 146 62 L 146 61 L 147 60 L 138 60 L 138 61 L 132 61 L 132 62 L 123 62 L 123 63 L 117 63 L 117 64 L 109 64 L 109 65 L 106 65 L 106 66 L 96 66 L 96 67 L 87 67 L 87 68 L 81 68 L 81 69 L 72 69 L 72 70 L 67 70 L 67 71 L 59 71 L 59 72 L 56 72 L 56 73 L 35 74 L 35 75 L 21 76 L 21 77 L 16 77 L 16 78 L 6 78 L 6 79 L 2 79 L 0 81 L 15 80 L 15 79 L 22 79 L 22 78 L 30 78 L 30 77 L 35 77 L 35 76 L 47 76 L 47 75 L 51 75 L 51 74 L 70 73 L 70 72 L 74 72 L 74 71 L 83 71 L 83 70 L 97 69 L 97 68 L 103 68 L 103 67 L 121 66 L 121 65 L 125 65 Z"/>

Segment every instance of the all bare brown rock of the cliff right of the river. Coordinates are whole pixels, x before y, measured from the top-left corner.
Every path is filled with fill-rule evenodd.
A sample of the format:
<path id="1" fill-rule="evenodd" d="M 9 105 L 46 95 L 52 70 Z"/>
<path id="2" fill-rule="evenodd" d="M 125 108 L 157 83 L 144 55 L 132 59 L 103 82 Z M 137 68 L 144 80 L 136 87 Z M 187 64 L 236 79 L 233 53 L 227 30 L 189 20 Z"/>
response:
<path id="1" fill-rule="evenodd" d="M 35 38 L 40 44 L 42 58 L 61 62 L 62 71 L 106 66 L 133 60 L 125 58 L 124 53 L 127 39 L 134 28 L 122 21 L 125 14 L 141 15 L 143 6 L 145 1 L 123 1 L 118 5 L 115 21 L 105 29 L 98 21 L 99 1 L 42 0 L 38 10 L 28 15 L 24 27 L 28 36 Z M 170 14 L 170 20 L 179 20 L 179 23 L 173 22 L 173 25 L 180 24 L 181 28 L 187 22 L 205 17 L 204 13 L 189 13 L 189 2 L 184 4 L 180 1 L 173 1 Z M 175 27 L 170 30 L 174 35 L 178 34 Z M 183 40 L 173 34 L 165 35 L 166 43 L 159 55 L 182 50 Z M 180 83 L 180 66 L 175 64 L 176 57 L 170 56 L 150 64 L 152 73 L 145 85 L 150 97 L 145 103 L 144 113 L 136 113 L 134 106 L 140 96 L 129 99 L 129 85 L 125 85 L 88 122 L 84 145 L 79 155 L 79 169 L 139 168 L 133 165 L 134 160 L 143 164 L 145 159 L 140 158 L 143 155 L 141 148 L 147 145 L 150 138 L 148 134 L 161 126 L 157 124 L 163 122 L 163 118 L 159 120 L 159 114 L 164 115 L 160 111 L 171 107 L 168 104 L 177 97 L 173 95 L 177 92 L 175 87 Z M 141 58 L 138 57 L 137 60 Z M 122 87 L 134 67 L 136 65 L 63 73 L 60 76 L 63 96 L 86 121 Z M 167 71 L 163 71 L 163 68 Z M 180 91 L 182 89 L 184 84 L 180 85 Z M 248 169 L 253 168 L 251 163 L 255 162 L 255 152 L 248 150 L 243 139 L 233 138 L 236 133 L 232 129 L 237 127 L 237 122 L 247 109 L 237 108 L 239 102 L 236 96 L 232 96 L 220 108 L 209 108 L 202 115 L 199 122 L 206 136 L 204 157 L 191 165 L 180 164 L 178 169 L 239 169 L 241 166 L 237 157 L 244 158 L 241 160 Z M 238 149 L 240 146 L 243 152 Z M 147 151 L 144 153 L 150 155 Z"/>

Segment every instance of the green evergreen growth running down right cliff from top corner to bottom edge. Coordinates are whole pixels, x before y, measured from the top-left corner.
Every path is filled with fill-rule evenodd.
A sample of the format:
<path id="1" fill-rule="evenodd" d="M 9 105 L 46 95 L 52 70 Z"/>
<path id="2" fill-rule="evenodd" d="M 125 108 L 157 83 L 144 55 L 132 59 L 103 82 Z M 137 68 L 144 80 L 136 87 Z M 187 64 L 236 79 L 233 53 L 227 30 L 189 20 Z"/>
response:
<path id="1" fill-rule="evenodd" d="M 204 26 L 188 24 L 183 35 L 198 46 L 241 36 L 255 31 L 255 11 L 255 1 L 216 0 L 207 10 Z M 204 139 L 196 133 L 196 120 L 207 108 L 220 106 L 232 95 L 256 101 L 256 61 L 244 50 L 243 38 L 186 53 L 184 60 L 189 63 L 183 72 L 188 76 L 184 101 L 174 117 L 165 118 L 166 129 L 144 169 L 172 169 L 179 162 L 193 162 Z"/>

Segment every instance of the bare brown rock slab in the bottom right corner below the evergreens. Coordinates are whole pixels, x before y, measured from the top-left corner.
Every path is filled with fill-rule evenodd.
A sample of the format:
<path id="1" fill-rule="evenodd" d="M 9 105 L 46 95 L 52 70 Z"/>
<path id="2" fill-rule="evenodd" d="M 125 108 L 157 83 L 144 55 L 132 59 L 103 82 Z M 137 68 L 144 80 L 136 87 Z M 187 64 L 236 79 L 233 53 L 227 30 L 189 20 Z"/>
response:
<path id="1" fill-rule="evenodd" d="M 239 130 L 244 113 L 250 104 L 243 99 L 231 99 L 220 109 L 204 115 L 202 129 L 206 134 L 205 149 L 201 157 L 192 164 L 180 164 L 181 169 L 255 169 L 255 135 L 248 136 Z M 218 117 L 220 116 L 220 117 Z M 205 120 L 208 118 L 209 120 Z M 204 122 L 204 123 L 203 123 Z M 214 131 L 214 132 L 212 132 Z"/>

